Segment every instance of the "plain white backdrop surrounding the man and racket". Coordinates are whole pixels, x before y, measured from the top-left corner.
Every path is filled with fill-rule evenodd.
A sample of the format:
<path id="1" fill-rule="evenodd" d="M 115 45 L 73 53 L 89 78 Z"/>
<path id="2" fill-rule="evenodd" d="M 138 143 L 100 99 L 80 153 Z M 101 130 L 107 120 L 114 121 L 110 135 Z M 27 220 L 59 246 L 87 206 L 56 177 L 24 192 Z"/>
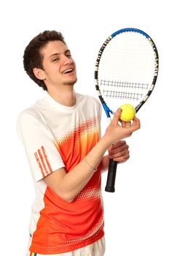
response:
<path id="1" fill-rule="evenodd" d="M 97 97 L 93 73 L 99 48 L 112 32 L 135 27 L 156 42 L 160 73 L 151 99 L 138 113 L 141 129 L 127 139 L 130 160 L 118 167 L 116 192 L 103 191 L 106 256 L 168 256 L 167 1 L 15 0 L 1 2 L 0 12 L 1 255 L 25 255 L 34 200 L 15 123 L 44 92 L 23 70 L 25 46 L 45 29 L 61 31 L 76 61 L 76 91 Z M 105 183 L 103 175 L 103 190 Z"/>

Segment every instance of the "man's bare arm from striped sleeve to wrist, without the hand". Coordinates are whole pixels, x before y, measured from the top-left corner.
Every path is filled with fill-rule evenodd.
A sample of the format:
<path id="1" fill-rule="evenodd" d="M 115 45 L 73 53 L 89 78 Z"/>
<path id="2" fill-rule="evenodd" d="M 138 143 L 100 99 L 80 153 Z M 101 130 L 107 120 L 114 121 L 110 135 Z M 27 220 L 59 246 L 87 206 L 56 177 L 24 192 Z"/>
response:
<path id="1" fill-rule="evenodd" d="M 106 149 L 107 143 L 102 138 L 86 156 L 90 165 L 83 159 L 71 172 L 66 173 L 65 168 L 60 168 L 46 176 L 44 182 L 63 200 L 73 201 L 93 176 L 94 171 L 90 166 L 96 168 L 99 165 Z"/>

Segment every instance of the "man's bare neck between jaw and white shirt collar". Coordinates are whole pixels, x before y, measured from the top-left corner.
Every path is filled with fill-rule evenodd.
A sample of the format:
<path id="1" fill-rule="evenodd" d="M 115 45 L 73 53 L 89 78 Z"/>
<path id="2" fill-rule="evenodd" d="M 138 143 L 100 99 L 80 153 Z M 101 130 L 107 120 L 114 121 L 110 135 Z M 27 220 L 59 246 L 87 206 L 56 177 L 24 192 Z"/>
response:
<path id="1" fill-rule="evenodd" d="M 74 86 L 62 86 L 60 89 L 52 88 L 48 89 L 47 92 L 61 105 L 73 107 L 76 104 Z"/>

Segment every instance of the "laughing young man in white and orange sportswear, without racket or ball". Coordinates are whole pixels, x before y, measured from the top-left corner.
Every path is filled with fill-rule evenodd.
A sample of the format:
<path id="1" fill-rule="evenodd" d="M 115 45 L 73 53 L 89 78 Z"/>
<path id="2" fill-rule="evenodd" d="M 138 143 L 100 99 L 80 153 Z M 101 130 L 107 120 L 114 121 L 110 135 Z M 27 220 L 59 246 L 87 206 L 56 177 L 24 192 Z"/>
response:
<path id="1" fill-rule="evenodd" d="M 101 171 L 109 158 L 129 158 L 122 139 L 140 128 L 139 120 L 119 125 L 119 109 L 101 138 L 101 106 L 74 92 L 76 65 L 57 31 L 32 39 L 23 62 L 30 78 L 47 91 L 17 121 L 36 189 L 28 255 L 101 256 Z"/>

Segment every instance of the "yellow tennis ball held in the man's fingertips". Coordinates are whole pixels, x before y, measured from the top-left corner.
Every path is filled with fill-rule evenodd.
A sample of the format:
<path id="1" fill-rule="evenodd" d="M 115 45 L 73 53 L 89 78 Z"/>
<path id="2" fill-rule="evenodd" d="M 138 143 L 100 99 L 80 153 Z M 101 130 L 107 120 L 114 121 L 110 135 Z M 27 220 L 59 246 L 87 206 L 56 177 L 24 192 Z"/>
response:
<path id="1" fill-rule="evenodd" d="M 124 104 L 121 107 L 122 113 L 120 119 L 122 121 L 131 121 L 135 117 L 135 108 L 133 105 Z"/>

